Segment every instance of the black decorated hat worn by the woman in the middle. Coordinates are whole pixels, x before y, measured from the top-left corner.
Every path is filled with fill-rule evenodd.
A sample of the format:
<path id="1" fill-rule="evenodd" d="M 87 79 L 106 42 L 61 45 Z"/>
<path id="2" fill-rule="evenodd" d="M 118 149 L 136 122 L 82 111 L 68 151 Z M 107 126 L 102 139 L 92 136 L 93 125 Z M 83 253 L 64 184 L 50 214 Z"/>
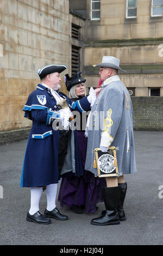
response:
<path id="1" fill-rule="evenodd" d="M 85 83 L 86 79 L 83 79 L 80 74 L 82 74 L 82 72 L 77 71 L 77 74 L 72 77 L 70 77 L 68 74 L 65 75 L 65 84 L 68 92 L 70 92 L 71 87 L 75 86 L 76 84 Z"/>

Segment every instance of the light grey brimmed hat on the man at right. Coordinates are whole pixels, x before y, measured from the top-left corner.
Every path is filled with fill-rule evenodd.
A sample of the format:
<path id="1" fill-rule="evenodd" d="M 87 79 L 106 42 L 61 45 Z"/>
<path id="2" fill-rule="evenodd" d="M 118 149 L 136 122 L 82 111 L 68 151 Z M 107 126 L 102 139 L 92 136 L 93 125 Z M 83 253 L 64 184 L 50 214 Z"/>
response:
<path id="1" fill-rule="evenodd" d="M 102 63 L 99 63 L 96 66 L 104 66 L 107 68 L 118 69 L 126 72 L 125 70 L 120 68 L 120 60 L 113 56 L 103 56 Z"/>

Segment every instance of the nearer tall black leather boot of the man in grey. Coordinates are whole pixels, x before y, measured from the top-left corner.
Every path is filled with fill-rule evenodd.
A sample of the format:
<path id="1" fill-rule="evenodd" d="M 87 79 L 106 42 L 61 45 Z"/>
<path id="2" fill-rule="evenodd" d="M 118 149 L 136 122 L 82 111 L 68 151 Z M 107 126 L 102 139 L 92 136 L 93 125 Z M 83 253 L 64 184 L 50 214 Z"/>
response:
<path id="1" fill-rule="evenodd" d="M 93 218 L 92 225 L 117 225 L 120 224 L 120 218 L 117 206 L 120 202 L 121 186 L 103 187 L 103 198 L 105 204 L 105 214 L 98 218 Z"/>

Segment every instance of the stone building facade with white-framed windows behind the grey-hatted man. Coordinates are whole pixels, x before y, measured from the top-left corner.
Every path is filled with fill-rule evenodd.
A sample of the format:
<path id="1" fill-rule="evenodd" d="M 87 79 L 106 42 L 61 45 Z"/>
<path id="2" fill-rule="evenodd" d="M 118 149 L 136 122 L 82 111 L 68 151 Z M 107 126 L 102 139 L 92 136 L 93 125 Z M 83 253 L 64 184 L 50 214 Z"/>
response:
<path id="1" fill-rule="evenodd" d="M 125 75 L 121 74 L 121 79 L 133 95 L 150 96 L 158 89 L 158 95 L 163 96 L 163 1 L 82 2 L 83 6 L 77 0 L 74 9 L 86 18 L 83 69 L 87 86 L 98 83 L 98 69 L 92 68 L 92 64 L 101 62 L 102 56 L 111 55 L 121 60 L 122 69 L 127 71 Z M 92 19 L 91 12 L 96 6 L 97 9 L 100 6 L 100 17 L 97 15 L 97 19 Z M 135 9 L 134 17 L 127 14 L 127 7 Z M 155 15 L 152 14 L 154 8 Z"/>

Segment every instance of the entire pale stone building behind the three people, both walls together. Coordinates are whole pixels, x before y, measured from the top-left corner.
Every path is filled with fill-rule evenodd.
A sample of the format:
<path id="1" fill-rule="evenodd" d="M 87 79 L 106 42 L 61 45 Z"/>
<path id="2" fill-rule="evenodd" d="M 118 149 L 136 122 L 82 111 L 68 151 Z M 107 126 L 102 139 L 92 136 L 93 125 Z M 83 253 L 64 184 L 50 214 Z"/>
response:
<path id="1" fill-rule="evenodd" d="M 68 66 L 61 74 L 61 91 L 67 93 L 66 73 L 81 70 L 86 87 L 96 87 L 98 69 L 92 64 L 112 55 L 120 58 L 122 69 L 127 71 L 120 76 L 133 95 L 149 96 L 158 89 L 163 96 L 163 18 L 162 14 L 151 15 L 154 1 L 163 2 L 1 0 L 0 143 L 10 131 L 20 131 L 12 135 L 23 138 L 31 126 L 22 108 L 40 81 L 37 70 L 48 64 Z M 136 7 L 129 7 L 135 17 L 127 17 L 130 2 L 136 3 Z"/>

